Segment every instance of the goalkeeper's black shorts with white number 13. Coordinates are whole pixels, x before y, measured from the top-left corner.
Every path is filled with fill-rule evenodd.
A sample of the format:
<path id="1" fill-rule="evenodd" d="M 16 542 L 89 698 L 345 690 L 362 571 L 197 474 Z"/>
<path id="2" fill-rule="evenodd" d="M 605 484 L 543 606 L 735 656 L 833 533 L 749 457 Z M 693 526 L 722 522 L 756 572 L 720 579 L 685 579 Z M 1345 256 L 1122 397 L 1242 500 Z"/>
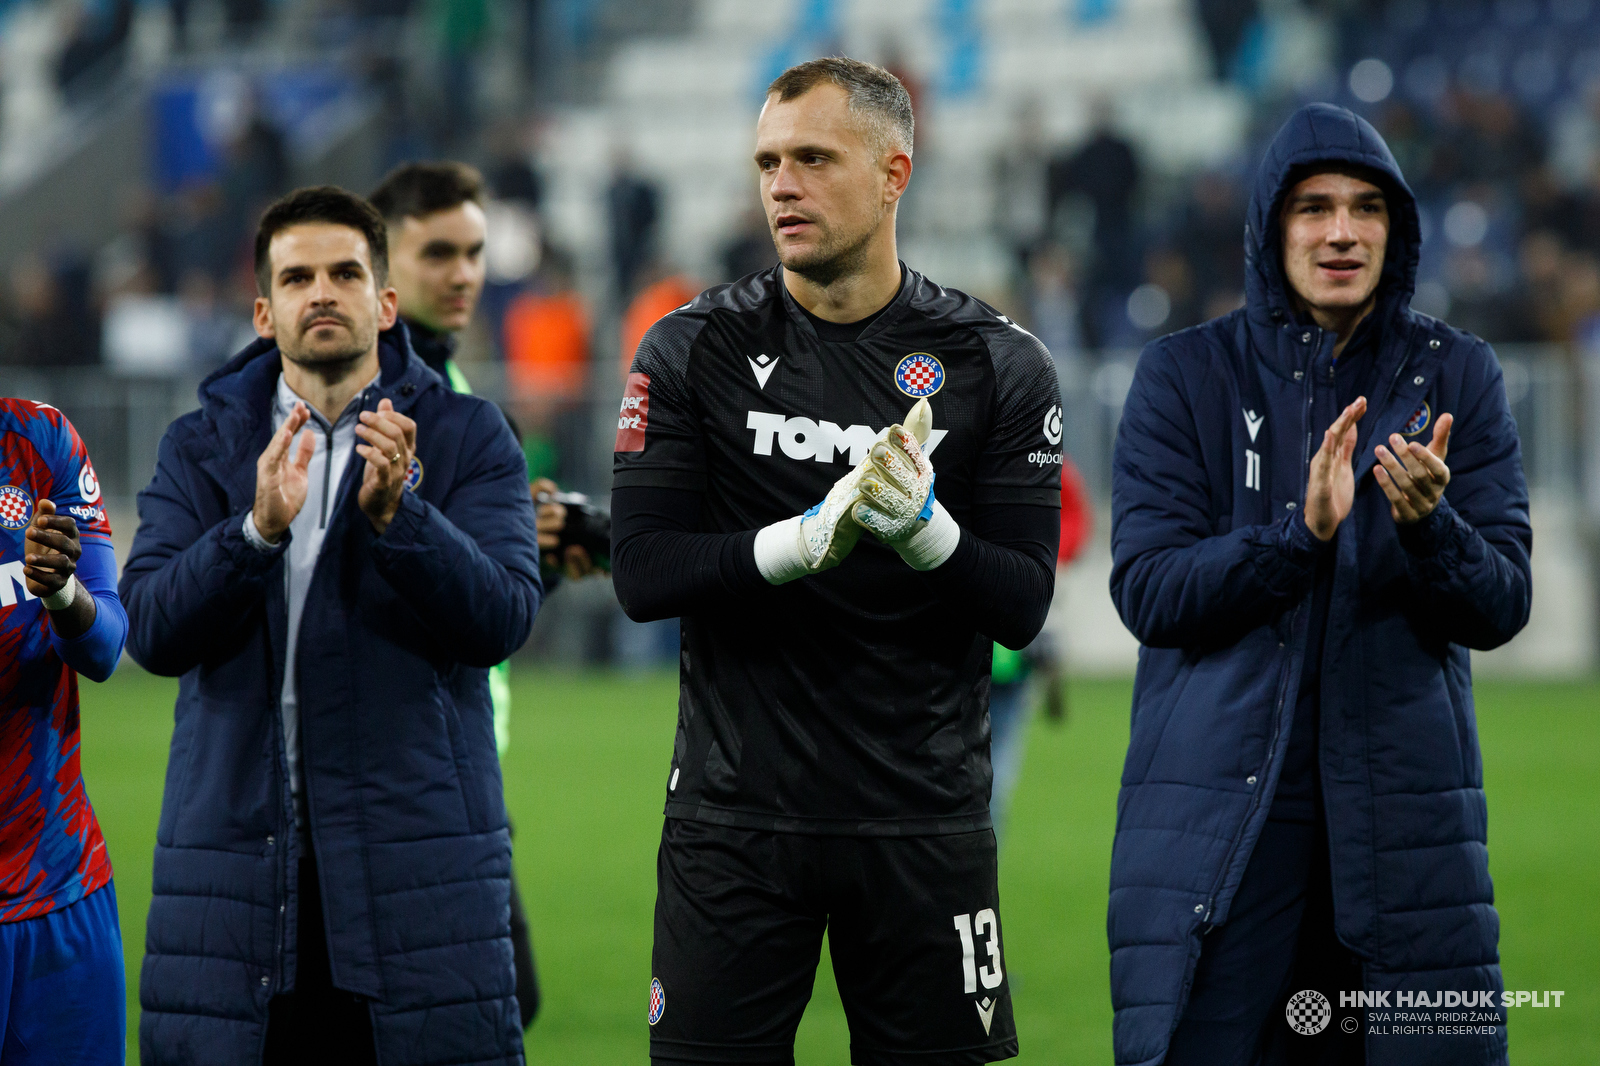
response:
<path id="1" fill-rule="evenodd" d="M 821 837 L 669 818 L 650 1060 L 794 1063 L 822 930 L 856 1066 L 1016 1055 L 994 832 Z"/>

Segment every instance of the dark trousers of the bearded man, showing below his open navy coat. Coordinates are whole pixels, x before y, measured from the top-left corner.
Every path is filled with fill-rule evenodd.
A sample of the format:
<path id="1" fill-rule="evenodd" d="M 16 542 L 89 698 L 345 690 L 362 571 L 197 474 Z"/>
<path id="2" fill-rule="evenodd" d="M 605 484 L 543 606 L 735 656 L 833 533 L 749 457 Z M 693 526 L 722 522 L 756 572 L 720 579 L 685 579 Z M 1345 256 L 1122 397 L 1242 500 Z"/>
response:
<path id="1" fill-rule="evenodd" d="M 294 989 L 267 1005 L 264 1066 L 378 1066 L 373 1015 L 360 996 L 336 989 L 328 967 L 317 856 L 310 847 L 299 868 L 299 962 Z"/>

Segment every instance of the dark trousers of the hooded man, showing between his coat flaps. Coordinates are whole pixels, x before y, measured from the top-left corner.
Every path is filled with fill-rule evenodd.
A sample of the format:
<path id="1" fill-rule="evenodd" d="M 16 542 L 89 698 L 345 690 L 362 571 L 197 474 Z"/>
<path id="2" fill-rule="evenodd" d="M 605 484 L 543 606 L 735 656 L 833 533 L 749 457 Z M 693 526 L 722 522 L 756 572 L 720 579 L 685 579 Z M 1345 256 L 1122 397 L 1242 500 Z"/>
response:
<path id="1" fill-rule="evenodd" d="M 1322 992 L 1333 1007 L 1315 1036 L 1301 1036 L 1286 1018 L 1290 997 L 1302 989 Z M 1165 1064 L 1362 1066 L 1362 1012 L 1339 1008 L 1339 992 L 1360 989 L 1360 959 L 1333 932 L 1325 824 L 1267 821 L 1227 924 L 1200 944 Z"/>

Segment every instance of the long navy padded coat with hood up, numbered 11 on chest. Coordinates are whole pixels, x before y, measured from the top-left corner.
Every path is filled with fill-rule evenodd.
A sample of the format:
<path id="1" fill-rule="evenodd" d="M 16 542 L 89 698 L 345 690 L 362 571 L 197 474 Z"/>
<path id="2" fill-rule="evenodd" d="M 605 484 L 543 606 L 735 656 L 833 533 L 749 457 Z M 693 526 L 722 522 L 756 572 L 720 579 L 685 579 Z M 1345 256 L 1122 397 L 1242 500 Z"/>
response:
<path id="1" fill-rule="evenodd" d="M 1117 1063 L 1158 1063 L 1202 936 L 1267 818 L 1290 736 L 1314 578 L 1307 418 L 1334 335 L 1285 295 L 1277 208 L 1306 163 L 1387 176 L 1378 387 L 1358 427 L 1355 506 L 1334 538 L 1318 752 L 1339 940 L 1368 991 L 1501 989 L 1499 919 L 1467 648 L 1528 619 L 1531 531 L 1517 427 L 1490 347 L 1410 311 L 1418 213 L 1378 133 L 1298 112 L 1261 165 L 1246 306 L 1152 343 L 1117 435 L 1112 599 L 1144 645 L 1117 800 L 1110 912 Z M 1456 416 L 1445 498 L 1398 528 L 1373 479 L 1392 432 Z M 1418 426 L 1422 424 L 1422 429 Z M 1299 528 L 1296 528 L 1299 527 Z M 1357 989 L 1352 989 L 1357 991 Z M 1506 1034 L 1368 1037 L 1374 1066 L 1499 1063 Z"/>

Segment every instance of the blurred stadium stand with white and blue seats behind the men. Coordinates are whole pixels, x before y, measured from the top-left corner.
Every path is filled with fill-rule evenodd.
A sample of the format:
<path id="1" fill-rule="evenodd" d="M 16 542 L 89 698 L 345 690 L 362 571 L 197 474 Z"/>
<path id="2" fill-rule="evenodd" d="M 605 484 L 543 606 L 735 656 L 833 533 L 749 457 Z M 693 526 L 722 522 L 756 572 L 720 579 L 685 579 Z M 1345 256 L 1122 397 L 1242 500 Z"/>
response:
<path id="1" fill-rule="evenodd" d="M 1571 589 L 1517 655 L 1594 661 L 1600 0 L 189 8 L 0 11 L 0 378 L 77 408 L 114 501 L 131 501 L 158 427 L 248 330 L 242 242 L 259 205 L 440 154 L 482 165 L 504 197 L 462 365 L 514 399 L 507 314 L 576 301 L 592 367 L 518 418 L 563 483 L 603 495 L 624 314 L 664 277 L 715 283 L 770 261 L 754 120 L 778 72 L 827 53 L 906 78 L 918 136 L 902 256 L 1048 343 L 1066 443 L 1104 495 L 1139 346 L 1237 306 L 1254 160 L 1293 107 L 1330 99 L 1382 130 L 1418 190 L 1418 307 L 1494 341 L 1506 365 L 1546 515 L 1536 567 L 1554 568 L 1536 581 Z M 1104 599 L 1102 536 L 1075 570 L 1077 605 Z M 1074 661 L 1126 661 L 1109 615 L 1082 629 L 1107 643 Z"/>

